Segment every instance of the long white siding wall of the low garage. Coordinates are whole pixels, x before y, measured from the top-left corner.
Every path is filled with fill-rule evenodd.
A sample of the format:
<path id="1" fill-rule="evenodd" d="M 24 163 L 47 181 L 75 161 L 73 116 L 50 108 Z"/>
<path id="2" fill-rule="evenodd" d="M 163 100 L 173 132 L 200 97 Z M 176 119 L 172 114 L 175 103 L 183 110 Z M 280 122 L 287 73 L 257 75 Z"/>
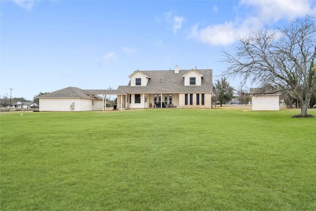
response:
<path id="1" fill-rule="evenodd" d="M 75 103 L 74 111 L 91 111 L 92 99 L 82 98 L 40 98 L 40 111 L 70 111 Z"/>

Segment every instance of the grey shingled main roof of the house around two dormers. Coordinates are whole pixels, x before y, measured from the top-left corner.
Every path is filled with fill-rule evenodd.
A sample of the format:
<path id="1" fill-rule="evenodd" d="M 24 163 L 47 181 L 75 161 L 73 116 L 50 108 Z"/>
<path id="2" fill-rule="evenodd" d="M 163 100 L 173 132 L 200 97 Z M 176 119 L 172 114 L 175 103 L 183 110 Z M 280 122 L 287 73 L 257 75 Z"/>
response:
<path id="1" fill-rule="evenodd" d="M 179 73 L 174 73 L 173 70 L 152 70 L 140 71 L 150 78 L 146 86 L 118 86 L 118 90 L 125 93 L 188 93 L 188 92 L 203 92 L 212 93 L 212 70 L 203 69 L 195 70 L 203 75 L 201 85 L 184 85 L 183 75 L 191 70 L 179 70 Z"/>

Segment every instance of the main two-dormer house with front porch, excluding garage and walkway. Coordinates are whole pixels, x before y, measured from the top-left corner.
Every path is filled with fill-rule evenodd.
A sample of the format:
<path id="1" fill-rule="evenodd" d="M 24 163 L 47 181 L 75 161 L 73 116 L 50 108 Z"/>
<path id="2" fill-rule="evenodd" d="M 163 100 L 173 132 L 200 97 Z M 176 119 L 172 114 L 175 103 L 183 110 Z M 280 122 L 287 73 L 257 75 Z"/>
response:
<path id="1" fill-rule="evenodd" d="M 140 71 L 118 86 L 118 108 L 211 108 L 212 70 Z"/>

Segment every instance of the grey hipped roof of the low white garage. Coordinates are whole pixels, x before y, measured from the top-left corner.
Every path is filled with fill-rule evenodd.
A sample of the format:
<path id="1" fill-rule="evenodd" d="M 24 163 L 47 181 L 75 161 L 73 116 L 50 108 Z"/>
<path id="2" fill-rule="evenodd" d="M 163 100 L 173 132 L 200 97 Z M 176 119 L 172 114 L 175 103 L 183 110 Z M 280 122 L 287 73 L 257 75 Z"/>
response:
<path id="1" fill-rule="evenodd" d="M 57 91 L 50 92 L 48 94 L 43 94 L 37 98 L 49 98 L 49 97 L 58 97 L 58 98 L 91 98 L 93 97 L 87 95 L 82 89 L 77 87 L 69 86 Z"/>

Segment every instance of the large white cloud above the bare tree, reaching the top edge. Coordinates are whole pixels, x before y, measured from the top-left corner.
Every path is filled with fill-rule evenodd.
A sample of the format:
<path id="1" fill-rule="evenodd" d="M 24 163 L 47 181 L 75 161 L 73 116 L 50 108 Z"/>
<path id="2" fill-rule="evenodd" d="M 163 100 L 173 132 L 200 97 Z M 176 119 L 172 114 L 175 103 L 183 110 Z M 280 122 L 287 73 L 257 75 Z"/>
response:
<path id="1" fill-rule="evenodd" d="M 240 9 L 246 7 L 250 15 L 243 17 L 242 13 L 237 13 L 230 22 L 208 25 L 201 29 L 198 29 L 197 23 L 192 27 L 188 38 L 209 45 L 227 45 L 259 26 L 273 24 L 280 19 L 316 14 L 316 5 L 309 0 L 241 0 L 239 6 Z"/>

